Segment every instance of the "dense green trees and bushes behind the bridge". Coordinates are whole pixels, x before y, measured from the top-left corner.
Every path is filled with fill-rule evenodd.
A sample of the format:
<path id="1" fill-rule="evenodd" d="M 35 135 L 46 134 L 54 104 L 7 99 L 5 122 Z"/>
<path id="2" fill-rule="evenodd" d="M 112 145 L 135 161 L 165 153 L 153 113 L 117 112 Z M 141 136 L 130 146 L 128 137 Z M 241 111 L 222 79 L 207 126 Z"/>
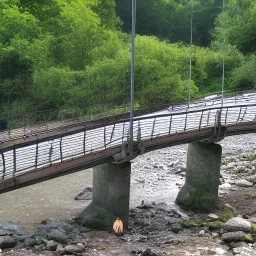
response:
<path id="1" fill-rule="evenodd" d="M 135 103 L 256 84 L 255 0 L 137 0 Z M 131 1 L 0 0 L 0 117 L 129 101 Z M 62 111 L 65 117 L 65 113 Z"/>

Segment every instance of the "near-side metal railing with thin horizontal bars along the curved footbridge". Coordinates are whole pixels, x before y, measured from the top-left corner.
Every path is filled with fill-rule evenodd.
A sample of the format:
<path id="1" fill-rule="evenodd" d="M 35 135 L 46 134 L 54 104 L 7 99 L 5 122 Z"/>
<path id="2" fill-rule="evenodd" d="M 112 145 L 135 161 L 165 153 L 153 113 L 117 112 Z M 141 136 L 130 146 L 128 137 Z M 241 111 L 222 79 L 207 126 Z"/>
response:
<path id="1" fill-rule="evenodd" d="M 256 122 L 256 94 L 250 103 L 247 97 L 240 100 L 229 99 L 224 107 L 216 101 L 209 106 L 194 106 L 189 110 L 177 112 L 162 111 L 154 115 L 136 117 L 134 122 L 135 141 L 143 144 L 145 140 L 200 131 L 205 128 L 237 125 Z M 219 120 L 217 120 L 220 117 Z M 136 138 L 137 135 L 137 138 Z M 113 121 L 109 124 L 84 127 L 73 134 L 35 141 L 31 145 L 13 145 L 0 148 L 0 180 L 15 178 L 21 174 L 46 168 L 72 158 L 77 158 L 120 146 L 129 139 L 129 120 Z"/>

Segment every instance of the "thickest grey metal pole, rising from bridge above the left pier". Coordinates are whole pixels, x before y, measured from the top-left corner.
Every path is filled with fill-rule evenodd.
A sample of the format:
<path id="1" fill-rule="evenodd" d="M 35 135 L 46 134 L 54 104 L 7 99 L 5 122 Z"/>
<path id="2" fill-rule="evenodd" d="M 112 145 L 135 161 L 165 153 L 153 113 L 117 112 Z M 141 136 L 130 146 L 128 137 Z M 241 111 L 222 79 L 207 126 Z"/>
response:
<path id="1" fill-rule="evenodd" d="M 132 0 L 132 48 L 131 48 L 131 88 L 130 88 L 130 140 L 129 154 L 133 154 L 133 112 L 134 112 L 134 73 L 135 73 L 135 25 L 136 25 L 136 0 Z"/>

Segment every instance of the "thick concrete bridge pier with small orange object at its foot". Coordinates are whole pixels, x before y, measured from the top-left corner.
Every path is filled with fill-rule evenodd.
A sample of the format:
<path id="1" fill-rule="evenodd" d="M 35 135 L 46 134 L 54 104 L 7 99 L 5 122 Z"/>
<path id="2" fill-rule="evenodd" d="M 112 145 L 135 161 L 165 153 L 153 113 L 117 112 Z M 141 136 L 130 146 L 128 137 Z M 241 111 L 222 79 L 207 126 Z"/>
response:
<path id="1" fill-rule="evenodd" d="M 131 163 L 103 164 L 93 169 L 92 203 L 79 215 L 80 225 L 112 230 L 116 218 L 128 227 Z"/>

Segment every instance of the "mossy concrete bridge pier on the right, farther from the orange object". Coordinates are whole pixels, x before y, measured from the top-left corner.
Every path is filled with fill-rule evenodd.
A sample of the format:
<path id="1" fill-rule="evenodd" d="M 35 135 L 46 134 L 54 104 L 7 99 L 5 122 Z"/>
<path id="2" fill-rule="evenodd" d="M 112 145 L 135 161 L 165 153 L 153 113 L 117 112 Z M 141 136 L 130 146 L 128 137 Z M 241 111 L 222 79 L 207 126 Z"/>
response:
<path id="1" fill-rule="evenodd" d="M 211 211 L 218 206 L 221 155 L 219 144 L 189 144 L 186 182 L 176 199 L 178 204 L 198 211 Z"/>

